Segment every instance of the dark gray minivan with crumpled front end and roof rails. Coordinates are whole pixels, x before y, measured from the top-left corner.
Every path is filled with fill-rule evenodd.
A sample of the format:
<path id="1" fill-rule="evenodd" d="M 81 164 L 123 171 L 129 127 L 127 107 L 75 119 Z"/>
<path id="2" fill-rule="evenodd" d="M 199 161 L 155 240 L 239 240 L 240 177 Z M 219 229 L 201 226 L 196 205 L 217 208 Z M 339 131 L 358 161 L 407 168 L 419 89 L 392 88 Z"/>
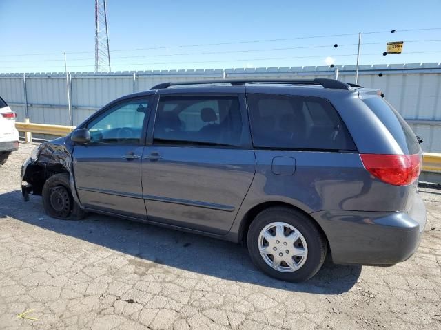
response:
<path id="1" fill-rule="evenodd" d="M 338 80 L 162 83 L 41 144 L 22 192 L 58 219 L 97 212 L 244 243 L 305 281 L 334 263 L 393 265 L 426 222 L 419 140 L 382 98 Z"/>

